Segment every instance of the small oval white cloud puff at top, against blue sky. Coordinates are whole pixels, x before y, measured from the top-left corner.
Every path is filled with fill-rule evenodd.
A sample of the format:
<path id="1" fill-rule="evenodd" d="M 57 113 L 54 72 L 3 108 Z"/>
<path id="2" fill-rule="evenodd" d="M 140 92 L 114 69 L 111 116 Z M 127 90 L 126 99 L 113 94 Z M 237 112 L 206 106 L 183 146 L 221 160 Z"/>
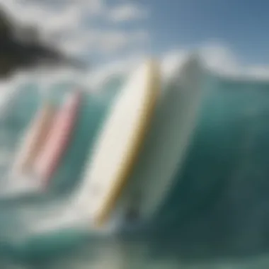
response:
<path id="1" fill-rule="evenodd" d="M 137 4 L 127 3 L 111 8 L 109 17 L 115 23 L 134 21 L 146 18 L 148 11 Z"/>

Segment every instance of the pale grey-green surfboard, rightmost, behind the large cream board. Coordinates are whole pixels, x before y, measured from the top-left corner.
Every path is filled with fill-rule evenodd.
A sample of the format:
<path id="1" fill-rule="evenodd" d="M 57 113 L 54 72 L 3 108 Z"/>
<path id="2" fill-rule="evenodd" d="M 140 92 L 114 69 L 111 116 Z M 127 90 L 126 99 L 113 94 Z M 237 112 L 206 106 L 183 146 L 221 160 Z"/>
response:
<path id="1" fill-rule="evenodd" d="M 200 60 L 192 55 L 173 74 L 173 86 L 166 85 L 168 88 L 162 91 L 149 135 L 130 178 L 126 200 L 122 201 L 121 212 L 126 216 L 128 210 L 137 210 L 139 219 L 150 217 L 164 200 L 195 127 L 201 81 Z"/>

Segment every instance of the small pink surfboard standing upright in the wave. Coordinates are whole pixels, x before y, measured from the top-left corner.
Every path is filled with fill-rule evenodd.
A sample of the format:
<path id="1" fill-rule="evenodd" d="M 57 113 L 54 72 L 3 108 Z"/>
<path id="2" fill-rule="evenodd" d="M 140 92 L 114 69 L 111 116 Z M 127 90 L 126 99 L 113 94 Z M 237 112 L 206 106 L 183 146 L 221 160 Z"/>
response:
<path id="1" fill-rule="evenodd" d="M 64 154 L 64 150 L 67 148 L 80 103 L 80 92 L 68 93 L 62 108 L 60 108 L 52 123 L 52 128 L 42 147 L 42 152 L 40 152 L 35 161 L 35 175 L 41 178 L 43 186 L 46 186 L 50 181 L 62 158 L 62 154 Z"/>

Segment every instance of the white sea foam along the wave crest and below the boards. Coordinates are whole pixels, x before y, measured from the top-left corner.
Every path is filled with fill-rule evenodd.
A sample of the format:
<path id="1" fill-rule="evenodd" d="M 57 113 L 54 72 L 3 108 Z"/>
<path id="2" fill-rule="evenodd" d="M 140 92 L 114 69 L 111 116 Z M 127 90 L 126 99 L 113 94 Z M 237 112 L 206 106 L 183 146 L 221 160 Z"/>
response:
<path id="1" fill-rule="evenodd" d="M 268 67 L 244 67 L 240 65 L 236 57 L 224 47 L 207 46 L 201 47 L 198 51 L 200 51 L 200 56 L 205 67 L 217 74 L 233 78 L 269 79 Z M 185 62 L 188 55 L 189 52 L 185 50 L 174 50 L 160 57 L 161 73 L 164 83 L 171 79 L 174 71 Z M 102 91 L 104 81 L 117 75 L 127 76 L 143 58 L 144 57 L 140 59 L 130 57 L 130 59 L 113 62 L 104 67 L 86 71 L 83 74 L 79 74 L 71 69 L 64 69 L 57 73 L 52 72 L 51 74 L 47 71 L 36 71 L 35 74 L 16 74 L 12 80 L 0 84 L 0 113 L 4 113 L 6 108 L 8 108 L 9 101 L 20 92 L 20 86 L 30 81 L 36 81 L 44 94 L 51 86 L 67 80 L 73 81 L 74 84 L 78 86 L 83 86 L 87 91 L 91 91 L 93 96 L 98 96 Z M 12 156 L 12 153 L 10 155 Z M 7 157 L 11 158 L 11 156 Z M 25 192 L 26 190 L 36 189 L 36 183 L 27 181 L 26 179 L 25 181 L 21 181 L 20 184 L 16 181 L 10 181 L 8 183 L 4 183 L 3 179 L 1 181 L 2 185 L 4 184 L 3 188 L 1 188 L 1 195 L 4 196 L 13 196 L 16 192 L 19 193 L 20 191 Z M 47 205 L 47 208 L 42 208 L 42 214 L 40 214 L 40 208 L 33 206 L 33 210 L 31 210 L 30 213 L 21 213 L 23 223 L 25 227 L 28 227 L 29 231 L 35 233 L 61 229 L 62 227 L 86 227 L 90 219 L 84 214 L 83 209 L 79 212 L 76 207 L 71 207 L 71 204 L 72 202 L 67 200 L 62 201 L 61 205 Z M 54 213 L 52 214 L 52 212 Z"/>

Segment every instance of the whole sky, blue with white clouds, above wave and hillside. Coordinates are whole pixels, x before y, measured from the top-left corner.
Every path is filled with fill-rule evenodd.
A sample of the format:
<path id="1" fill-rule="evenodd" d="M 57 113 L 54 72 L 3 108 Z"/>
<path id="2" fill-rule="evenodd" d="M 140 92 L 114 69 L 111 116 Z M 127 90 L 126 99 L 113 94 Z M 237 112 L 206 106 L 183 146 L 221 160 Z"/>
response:
<path id="1" fill-rule="evenodd" d="M 242 63 L 269 62 L 266 0 L 0 0 L 0 4 L 23 23 L 38 25 L 45 37 L 53 36 L 67 52 L 93 61 L 217 43 Z"/>

